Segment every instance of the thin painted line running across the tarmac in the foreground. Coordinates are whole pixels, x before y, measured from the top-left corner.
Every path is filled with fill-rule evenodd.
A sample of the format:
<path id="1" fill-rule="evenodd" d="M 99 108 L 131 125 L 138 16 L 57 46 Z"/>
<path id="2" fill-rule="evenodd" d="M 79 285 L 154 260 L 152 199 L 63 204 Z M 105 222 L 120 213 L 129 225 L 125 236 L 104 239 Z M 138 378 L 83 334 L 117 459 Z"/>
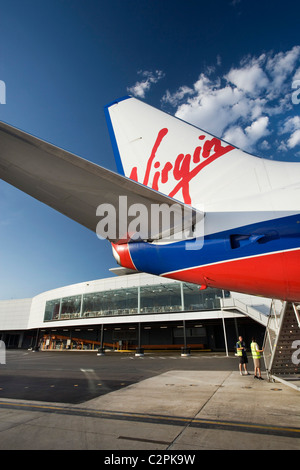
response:
<path id="1" fill-rule="evenodd" d="M 64 407 L 58 405 L 38 405 L 32 403 L 0 402 L 0 409 L 17 409 L 26 411 L 40 411 L 45 413 L 58 413 L 73 416 L 86 416 L 113 420 L 137 421 L 152 424 L 165 424 L 171 426 L 189 425 L 195 428 L 205 428 L 223 431 L 236 431 L 254 434 L 276 435 L 281 437 L 300 438 L 300 428 L 271 426 L 239 421 L 223 421 L 201 418 L 186 418 L 180 416 L 152 415 L 144 413 L 130 413 L 121 411 L 94 410 L 88 408 Z M 1 419 L 1 417 L 0 417 Z"/>

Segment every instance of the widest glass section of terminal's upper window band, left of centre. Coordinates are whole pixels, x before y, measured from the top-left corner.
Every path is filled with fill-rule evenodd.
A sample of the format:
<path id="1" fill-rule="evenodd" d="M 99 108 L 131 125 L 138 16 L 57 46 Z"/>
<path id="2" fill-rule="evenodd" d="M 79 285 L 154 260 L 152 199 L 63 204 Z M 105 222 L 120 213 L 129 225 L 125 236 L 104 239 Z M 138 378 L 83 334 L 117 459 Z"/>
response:
<path id="1" fill-rule="evenodd" d="M 94 292 L 83 296 L 82 315 L 130 315 L 138 313 L 138 288 Z"/>

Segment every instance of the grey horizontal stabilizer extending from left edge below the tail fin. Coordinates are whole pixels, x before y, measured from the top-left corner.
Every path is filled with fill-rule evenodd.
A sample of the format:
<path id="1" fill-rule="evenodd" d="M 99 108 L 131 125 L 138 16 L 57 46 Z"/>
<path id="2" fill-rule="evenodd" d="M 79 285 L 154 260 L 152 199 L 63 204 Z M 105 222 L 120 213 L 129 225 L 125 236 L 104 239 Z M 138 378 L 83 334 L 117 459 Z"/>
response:
<path id="1" fill-rule="evenodd" d="M 134 230 L 132 221 L 134 209 L 139 209 L 136 204 L 149 214 L 153 205 L 174 207 L 176 223 L 168 227 L 171 234 L 180 232 L 182 226 L 191 228 L 196 214 L 199 216 L 199 212 L 168 196 L 2 122 L 0 178 L 95 232 L 99 216 L 104 216 L 105 209 L 107 212 L 110 207 L 114 208 L 116 230 L 107 236 L 97 234 L 115 243 L 127 242 L 138 231 Z M 131 220 L 128 219 L 130 208 Z M 151 217 L 149 221 L 145 233 L 139 232 L 139 238 L 164 236 L 166 227 L 157 229 L 155 226 L 152 230 Z M 104 227 L 104 223 L 102 225 Z"/>

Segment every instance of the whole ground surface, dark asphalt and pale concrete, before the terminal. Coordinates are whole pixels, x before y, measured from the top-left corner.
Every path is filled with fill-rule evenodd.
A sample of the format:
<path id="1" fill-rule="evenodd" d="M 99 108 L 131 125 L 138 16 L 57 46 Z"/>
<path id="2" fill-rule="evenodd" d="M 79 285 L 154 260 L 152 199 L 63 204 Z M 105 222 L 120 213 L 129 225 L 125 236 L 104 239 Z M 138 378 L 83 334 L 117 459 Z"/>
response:
<path id="1" fill-rule="evenodd" d="M 299 450 L 299 392 L 251 369 L 250 359 L 241 376 L 234 356 L 214 353 L 7 351 L 0 449 L 98 450 L 100 463 L 131 467 L 170 463 L 162 455 L 196 464 L 203 450 Z M 138 460 L 113 462 L 123 455 Z"/>

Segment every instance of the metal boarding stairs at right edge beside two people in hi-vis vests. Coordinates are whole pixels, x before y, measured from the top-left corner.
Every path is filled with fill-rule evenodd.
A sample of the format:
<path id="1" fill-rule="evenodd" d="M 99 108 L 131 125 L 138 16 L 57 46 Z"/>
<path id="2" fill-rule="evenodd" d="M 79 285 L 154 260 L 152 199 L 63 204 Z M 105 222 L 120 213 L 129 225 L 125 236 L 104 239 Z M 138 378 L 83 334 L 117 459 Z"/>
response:
<path id="1" fill-rule="evenodd" d="M 270 381 L 283 382 L 300 391 L 300 304 L 272 301 L 264 360 Z"/>

